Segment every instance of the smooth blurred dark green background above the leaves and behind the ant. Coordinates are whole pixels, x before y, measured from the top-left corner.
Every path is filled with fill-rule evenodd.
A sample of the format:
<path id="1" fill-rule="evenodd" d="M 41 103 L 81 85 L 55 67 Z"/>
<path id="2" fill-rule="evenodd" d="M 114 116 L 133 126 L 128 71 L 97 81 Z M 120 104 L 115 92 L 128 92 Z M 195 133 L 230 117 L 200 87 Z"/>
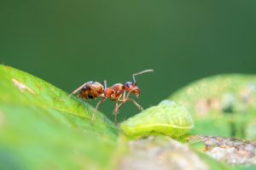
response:
<path id="1" fill-rule="evenodd" d="M 213 74 L 255 73 L 256 1 L 0 2 L 0 62 L 70 93 L 137 77 L 147 108 Z M 96 105 L 96 101 L 90 101 Z M 101 105 L 113 120 L 114 104 Z M 136 114 L 125 105 L 119 120 Z"/>

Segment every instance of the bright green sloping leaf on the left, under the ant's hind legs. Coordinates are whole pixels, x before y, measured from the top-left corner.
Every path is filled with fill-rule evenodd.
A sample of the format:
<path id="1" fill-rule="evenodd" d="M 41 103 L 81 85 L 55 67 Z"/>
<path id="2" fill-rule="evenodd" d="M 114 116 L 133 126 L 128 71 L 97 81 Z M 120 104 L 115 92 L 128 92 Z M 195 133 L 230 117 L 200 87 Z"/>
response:
<path id="1" fill-rule="evenodd" d="M 106 116 L 91 122 L 93 107 L 9 66 L 0 80 L 0 167 L 113 168 L 118 130 Z"/>

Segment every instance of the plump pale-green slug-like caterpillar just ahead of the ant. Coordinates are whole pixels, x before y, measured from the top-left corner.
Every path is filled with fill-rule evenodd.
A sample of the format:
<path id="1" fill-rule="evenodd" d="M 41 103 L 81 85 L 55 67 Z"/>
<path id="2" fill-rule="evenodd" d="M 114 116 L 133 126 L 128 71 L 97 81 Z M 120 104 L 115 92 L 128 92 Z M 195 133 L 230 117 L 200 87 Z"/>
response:
<path id="1" fill-rule="evenodd" d="M 166 135 L 178 138 L 194 126 L 192 117 L 183 106 L 164 100 L 159 105 L 129 118 L 121 125 L 128 136 Z"/>

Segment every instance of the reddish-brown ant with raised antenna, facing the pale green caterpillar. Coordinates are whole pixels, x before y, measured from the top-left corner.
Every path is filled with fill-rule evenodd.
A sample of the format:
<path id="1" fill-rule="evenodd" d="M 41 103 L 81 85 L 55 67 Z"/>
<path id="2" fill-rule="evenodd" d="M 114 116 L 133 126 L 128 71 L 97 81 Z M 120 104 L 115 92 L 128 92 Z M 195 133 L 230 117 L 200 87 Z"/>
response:
<path id="1" fill-rule="evenodd" d="M 154 70 L 148 69 L 145 71 L 140 71 L 132 75 L 133 82 L 125 82 L 125 84 L 116 83 L 113 86 L 107 88 L 107 81 L 104 81 L 104 86 L 100 82 L 85 82 L 82 86 L 75 89 L 71 94 L 79 93 L 79 98 L 81 99 L 97 99 L 98 97 L 102 97 L 101 100 L 98 101 L 95 111 L 91 117 L 91 120 L 94 120 L 96 111 L 106 99 L 110 99 L 115 101 L 115 108 L 113 110 L 113 114 L 115 116 L 114 121 L 117 122 L 117 114 L 122 105 L 124 105 L 127 101 L 131 101 L 134 105 L 137 106 L 139 110 L 143 110 L 141 105 L 137 104 L 137 101 L 129 98 L 130 94 L 135 94 L 137 97 L 141 94 L 140 88 L 137 87 L 135 76 L 141 75 L 146 72 L 152 72 Z M 125 94 L 125 91 L 128 91 L 128 94 Z M 120 103 L 119 103 L 120 102 Z"/>

